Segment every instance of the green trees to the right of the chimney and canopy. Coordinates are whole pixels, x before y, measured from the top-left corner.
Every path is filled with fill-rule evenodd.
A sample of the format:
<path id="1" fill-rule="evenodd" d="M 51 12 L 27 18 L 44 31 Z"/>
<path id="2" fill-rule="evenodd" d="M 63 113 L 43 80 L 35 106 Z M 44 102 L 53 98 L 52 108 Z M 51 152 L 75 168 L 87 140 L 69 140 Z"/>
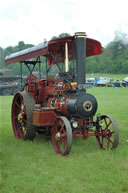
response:
<path id="1" fill-rule="evenodd" d="M 102 54 L 87 58 L 87 72 L 128 73 L 128 38 L 115 37 Z"/>

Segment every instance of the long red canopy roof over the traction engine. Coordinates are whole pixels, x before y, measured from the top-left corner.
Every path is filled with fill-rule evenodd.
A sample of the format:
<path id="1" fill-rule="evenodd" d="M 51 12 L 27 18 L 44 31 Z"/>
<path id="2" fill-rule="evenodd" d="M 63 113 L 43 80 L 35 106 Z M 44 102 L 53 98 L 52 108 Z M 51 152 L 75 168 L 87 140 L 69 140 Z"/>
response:
<path id="1" fill-rule="evenodd" d="M 49 42 L 43 42 L 37 46 L 34 46 L 32 48 L 28 48 L 26 50 L 22 50 L 20 52 L 16 52 L 14 54 L 8 55 L 5 58 L 5 64 L 12 64 L 15 62 L 21 62 L 25 60 L 29 60 L 38 56 L 46 56 L 50 58 L 50 53 L 52 53 L 54 56 L 58 53 L 58 50 L 61 49 L 64 53 L 64 45 L 67 42 L 68 43 L 68 54 L 69 54 L 69 60 L 73 59 L 73 40 L 74 36 L 69 37 L 63 37 L 63 38 L 57 38 L 50 40 Z M 93 40 L 90 38 L 85 38 L 86 43 L 86 56 L 93 56 L 101 54 L 102 52 L 102 46 L 101 43 L 97 40 Z M 59 53 L 57 56 L 57 61 L 62 62 L 62 53 Z"/>

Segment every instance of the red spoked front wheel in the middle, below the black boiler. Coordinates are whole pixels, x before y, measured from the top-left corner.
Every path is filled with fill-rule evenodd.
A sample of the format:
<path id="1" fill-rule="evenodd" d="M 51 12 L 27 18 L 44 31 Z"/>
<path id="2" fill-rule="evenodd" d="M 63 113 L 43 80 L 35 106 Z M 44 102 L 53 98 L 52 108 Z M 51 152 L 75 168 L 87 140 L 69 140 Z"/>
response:
<path id="1" fill-rule="evenodd" d="M 52 128 L 52 142 L 57 154 L 69 154 L 72 146 L 72 129 L 64 116 L 58 117 Z"/>

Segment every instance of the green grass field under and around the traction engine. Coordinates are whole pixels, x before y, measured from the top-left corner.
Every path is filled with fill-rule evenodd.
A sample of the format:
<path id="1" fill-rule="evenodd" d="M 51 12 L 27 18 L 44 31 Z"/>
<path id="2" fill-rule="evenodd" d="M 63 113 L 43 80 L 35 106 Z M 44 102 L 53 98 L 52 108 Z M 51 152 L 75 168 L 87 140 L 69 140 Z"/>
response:
<path id="1" fill-rule="evenodd" d="M 1 193 L 128 193 L 128 88 L 92 88 L 98 112 L 118 124 L 116 150 L 100 150 L 94 137 L 73 139 L 71 153 L 54 152 L 51 138 L 34 143 L 15 139 L 11 126 L 11 96 L 0 97 Z"/>

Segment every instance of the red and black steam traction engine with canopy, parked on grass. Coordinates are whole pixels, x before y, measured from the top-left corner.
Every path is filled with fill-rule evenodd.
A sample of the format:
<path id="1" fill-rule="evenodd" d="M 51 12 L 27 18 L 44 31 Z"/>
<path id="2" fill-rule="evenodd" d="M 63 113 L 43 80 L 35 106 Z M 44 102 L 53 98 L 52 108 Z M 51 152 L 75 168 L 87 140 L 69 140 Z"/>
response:
<path id="1" fill-rule="evenodd" d="M 20 62 L 22 72 L 24 63 L 30 71 L 24 89 L 15 94 L 12 103 L 15 137 L 34 140 L 37 132 L 51 135 L 54 149 L 61 155 L 69 154 L 73 137 L 95 136 L 100 148 L 116 148 L 116 122 L 111 116 L 100 114 L 94 120 L 97 100 L 86 93 L 86 57 L 101 52 L 100 42 L 80 32 L 7 56 L 6 64 Z M 39 73 L 37 79 L 33 69 L 37 63 L 40 69 L 41 56 L 46 58 L 46 76 L 41 78 Z M 58 72 L 52 71 L 55 66 Z"/>

